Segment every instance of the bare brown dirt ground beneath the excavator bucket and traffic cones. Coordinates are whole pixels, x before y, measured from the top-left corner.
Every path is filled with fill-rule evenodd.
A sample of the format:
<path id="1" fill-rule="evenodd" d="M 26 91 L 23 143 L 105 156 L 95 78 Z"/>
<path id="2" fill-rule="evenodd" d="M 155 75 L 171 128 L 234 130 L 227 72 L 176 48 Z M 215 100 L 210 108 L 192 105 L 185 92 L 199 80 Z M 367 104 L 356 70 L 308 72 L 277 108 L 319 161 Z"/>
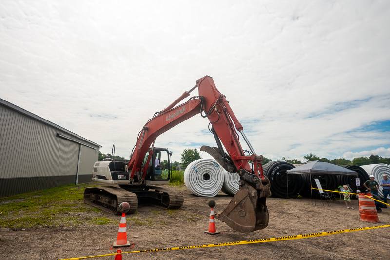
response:
<path id="1" fill-rule="evenodd" d="M 184 186 L 169 187 L 183 192 L 183 207 L 180 210 L 166 210 L 161 207 L 139 206 L 137 216 L 145 221 L 128 221 L 128 238 L 134 244 L 134 250 L 270 238 L 375 225 L 359 220 L 356 200 L 352 200 L 355 210 L 351 210 L 346 209 L 342 201 L 334 201 L 324 207 L 318 201 L 317 205 L 312 205 L 310 199 L 269 198 L 267 205 L 270 221 L 266 229 L 242 234 L 217 220 L 216 228 L 221 233 L 211 236 L 203 233 L 208 227 L 210 212 L 207 202 L 210 198 L 196 197 Z M 222 193 L 215 197 L 215 211 L 221 211 L 231 198 Z M 117 224 L 1 229 L 0 259 L 59 259 L 112 253 L 114 250 L 111 245 L 117 236 L 120 217 L 104 212 L 97 214 L 117 219 Z M 384 209 L 379 219 L 380 225 L 390 224 L 390 209 Z M 125 254 L 123 259 L 390 259 L 389 234 L 390 228 L 381 228 L 302 240 Z M 114 259 L 114 256 L 96 259 Z"/>

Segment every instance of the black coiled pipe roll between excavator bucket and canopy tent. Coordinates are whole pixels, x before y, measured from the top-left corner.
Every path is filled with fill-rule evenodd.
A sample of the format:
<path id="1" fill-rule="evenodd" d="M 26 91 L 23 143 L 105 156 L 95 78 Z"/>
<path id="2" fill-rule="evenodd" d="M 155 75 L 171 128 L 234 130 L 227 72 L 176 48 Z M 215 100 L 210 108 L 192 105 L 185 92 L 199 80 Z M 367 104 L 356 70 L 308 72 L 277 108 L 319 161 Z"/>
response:
<path id="1" fill-rule="evenodd" d="M 264 175 L 268 177 L 271 183 L 271 194 L 277 198 L 296 198 L 302 189 L 302 177 L 298 174 L 289 174 L 286 179 L 287 170 L 295 168 L 294 165 L 285 161 L 271 161 L 264 164 Z M 288 184 L 288 194 L 287 194 Z"/>

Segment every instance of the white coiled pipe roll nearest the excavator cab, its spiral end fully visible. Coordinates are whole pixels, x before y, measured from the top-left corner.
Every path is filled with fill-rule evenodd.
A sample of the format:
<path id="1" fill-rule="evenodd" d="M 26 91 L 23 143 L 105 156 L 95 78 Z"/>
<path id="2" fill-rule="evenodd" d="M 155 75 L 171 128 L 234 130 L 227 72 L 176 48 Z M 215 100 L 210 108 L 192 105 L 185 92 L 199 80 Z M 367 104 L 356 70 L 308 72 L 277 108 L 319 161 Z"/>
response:
<path id="1" fill-rule="evenodd" d="M 198 159 L 191 162 L 184 171 L 184 184 L 193 194 L 215 197 L 221 190 L 224 169 L 213 159 Z"/>

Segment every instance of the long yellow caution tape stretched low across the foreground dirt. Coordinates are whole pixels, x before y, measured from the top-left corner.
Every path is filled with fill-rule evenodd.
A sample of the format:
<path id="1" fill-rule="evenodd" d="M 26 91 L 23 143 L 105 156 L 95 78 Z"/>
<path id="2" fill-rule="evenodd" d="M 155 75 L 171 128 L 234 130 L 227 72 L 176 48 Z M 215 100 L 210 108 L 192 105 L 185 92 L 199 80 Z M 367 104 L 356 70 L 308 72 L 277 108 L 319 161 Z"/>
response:
<path id="1" fill-rule="evenodd" d="M 282 237 L 276 237 L 276 238 L 243 240 L 243 241 L 235 241 L 235 242 L 224 242 L 224 243 L 218 243 L 218 244 L 190 245 L 190 246 L 156 248 L 156 249 L 148 249 L 148 250 L 125 251 L 125 252 L 122 252 L 122 254 L 143 253 L 143 252 L 173 251 L 173 250 L 182 250 L 182 249 L 194 249 L 194 248 L 229 246 L 229 245 L 256 244 L 256 243 L 277 242 L 277 241 L 295 240 L 295 239 L 307 239 L 307 238 L 322 237 L 322 236 L 329 236 L 329 235 L 335 235 L 335 234 L 341 234 L 341 233 L 363 231 L 363 230 L 370 230 L 370 229 L 377 229 L 377 228 L 384 228 L 384 227 L 390 227 L 390 225 L 372 226 L 372 227 L 359 227 L 359 228 L 352 228 L 352 229 L 343 229 L 343 230 L 335 230 L 335 231 L 324 231 L 324 232 L 316 232 L 316 233 L 301 234 L 301 235 L 282 236 Z M 106 256 L 115 256 L 115 255 L 117 255 L 117 253 L 96 255 L 96 256 L 87 256 L 87 257 L 64 258 L 64 259 L 59 259 L 59 260 L 79 260 L 79 259 L 106 257 Z"/>

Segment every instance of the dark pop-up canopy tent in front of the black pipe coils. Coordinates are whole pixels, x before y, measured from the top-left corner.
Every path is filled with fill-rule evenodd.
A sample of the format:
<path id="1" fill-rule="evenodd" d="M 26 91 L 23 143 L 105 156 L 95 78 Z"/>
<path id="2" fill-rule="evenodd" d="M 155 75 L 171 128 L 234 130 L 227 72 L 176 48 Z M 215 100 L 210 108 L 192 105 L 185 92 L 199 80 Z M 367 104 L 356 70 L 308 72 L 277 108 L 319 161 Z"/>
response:
<path id="1" fill-rule="evenodd" d="M 313 200 L 313 193 L 312 193 L 312 175 L 351 175 L 351 176 L 357 176 L 357 172 L 351 171 L 347 168 L 334 165 L 328 162 L 322 162 L 322 161 L 308 161 L 307 163 L 293 168 L 291 170 L 288 170 L 286 172 L 286 178 L 288 180 L 289 174 L 309 174 L 310 178 L 310 193 Z M 289 187 L 287 186 L 287 193 L 288 193 Z M 312 201 L 313 202 L 313 201 Z"/>

